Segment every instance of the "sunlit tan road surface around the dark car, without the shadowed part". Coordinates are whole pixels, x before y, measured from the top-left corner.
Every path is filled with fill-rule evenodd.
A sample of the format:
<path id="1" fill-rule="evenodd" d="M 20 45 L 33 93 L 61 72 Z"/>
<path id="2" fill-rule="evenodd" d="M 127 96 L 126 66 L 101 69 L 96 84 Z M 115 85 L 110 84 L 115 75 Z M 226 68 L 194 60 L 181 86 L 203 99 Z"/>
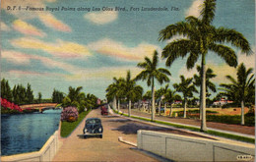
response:
<path id="1" fill-rule="evenodd" d="M 113 116 L 102 117 L 99 109 L 92 111 L 87 118 L 91 117 L 101 118 L 103 138 L 77 136 L 83 133 L 85 119 L 72 135 L 63 140 L 63 145 L 53 161 L 159 161 L 145 152 L 132 149 L 131 145 L 118 141 L 118 136 L 136 141 L 136 135 L 117 131 L 125 120 Z"/>

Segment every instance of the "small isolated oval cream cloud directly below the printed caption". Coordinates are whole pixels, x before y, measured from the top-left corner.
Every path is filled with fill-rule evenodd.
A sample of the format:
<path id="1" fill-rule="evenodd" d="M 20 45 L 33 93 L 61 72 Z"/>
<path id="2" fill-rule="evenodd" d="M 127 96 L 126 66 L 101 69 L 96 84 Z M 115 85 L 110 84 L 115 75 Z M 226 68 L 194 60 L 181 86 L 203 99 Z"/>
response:
<path id="1" fill-rule="evenodd" d="M 105 25 L 115 21 L 117 18 L 118 12 L 116 11 L 101 11 L 85 15 L 85 19 L 93 22 L 96 25 Z"/>

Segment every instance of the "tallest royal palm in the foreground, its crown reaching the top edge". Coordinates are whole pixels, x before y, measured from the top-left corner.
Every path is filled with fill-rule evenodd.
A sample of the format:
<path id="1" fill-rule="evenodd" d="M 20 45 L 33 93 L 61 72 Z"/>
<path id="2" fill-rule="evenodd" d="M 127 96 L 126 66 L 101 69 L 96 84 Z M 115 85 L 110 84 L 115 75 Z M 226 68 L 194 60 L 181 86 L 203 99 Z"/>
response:
<path id="1" fill-rule="evenodd" d="M 242 53 L 251 54 L 251 48 L 246 38 L 235 29 L 225 27 L 214 27 L 213 21 L 216 11 L 216 0 L 205 0 L 201 6 L 199 18 L 189 16 L 183 22 L 178 22 L 160 30 L 160 40 L 167 40 L 173 36 L 180 35 L 169 42 L 162 51 L 161 57 L 166 59 L 166 66 L 170 66 L 174 60 L 181 57 L 187 58 L 187 69 L 194 67 L 201 57 L 201 103 L 203 117 L 201 131 L 207 131 L 206 126 L 206 56 L 211 51 L 217 53 L 226 64 L 231 67 L 237 66 L 237 57 L 234 50 L 228 46 L 229 43 L 241 49 Z M 222 44 L 224 43 L 224 45 Z M 211 53 L 211 54 L 212 54 Z"/>

